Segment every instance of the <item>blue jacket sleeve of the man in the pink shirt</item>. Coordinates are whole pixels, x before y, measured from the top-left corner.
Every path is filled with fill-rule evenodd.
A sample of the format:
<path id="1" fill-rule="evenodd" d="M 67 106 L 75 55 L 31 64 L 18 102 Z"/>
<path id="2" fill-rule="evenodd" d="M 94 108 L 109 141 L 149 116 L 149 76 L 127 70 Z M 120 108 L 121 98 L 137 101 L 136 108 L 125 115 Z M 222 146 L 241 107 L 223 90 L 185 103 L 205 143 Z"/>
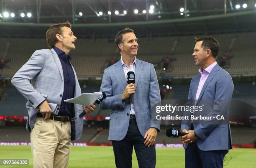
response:
<path id="1" fill-rule="evenodd" d="M 210 116 L 221 115 L 228 112 L 234 90 L 234 84 L 229 74 L 222 76 L 216 82 L 215 101 L 210 111 Z M 198 125 L 195 133 L 205 139 L 217 125 Z"/>

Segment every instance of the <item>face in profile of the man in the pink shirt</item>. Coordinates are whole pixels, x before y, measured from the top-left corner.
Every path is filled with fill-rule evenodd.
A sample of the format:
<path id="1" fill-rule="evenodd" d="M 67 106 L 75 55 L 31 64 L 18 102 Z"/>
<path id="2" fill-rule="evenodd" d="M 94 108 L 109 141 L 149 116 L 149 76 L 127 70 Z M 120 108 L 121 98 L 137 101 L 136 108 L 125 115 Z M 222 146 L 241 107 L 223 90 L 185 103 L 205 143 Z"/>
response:
<path id="1" fill-rule="evenodd" d="M 207 60 L 209 58 L 209 49 L 204 50 L 202 48 L 202 42 L 203 41 L 197 41 L 197 43 L 195 44 L 194 52 L 192 54 L 192 56 L 194 56 L 195 59 L 195 64 L 201 67 L 203 67 L 207 63 Z"/>

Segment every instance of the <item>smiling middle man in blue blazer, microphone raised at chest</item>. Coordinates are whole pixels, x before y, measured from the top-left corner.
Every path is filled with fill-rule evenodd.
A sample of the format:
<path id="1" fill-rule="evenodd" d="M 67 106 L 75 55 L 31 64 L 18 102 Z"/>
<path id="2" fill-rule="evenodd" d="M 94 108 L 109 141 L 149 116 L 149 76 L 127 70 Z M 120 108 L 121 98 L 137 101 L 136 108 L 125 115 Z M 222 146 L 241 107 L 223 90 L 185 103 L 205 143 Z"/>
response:
<path id="1" fill-rule="evenodd" d="M 161 101 L 156 71 L 153 64 L 136 59 L 138 43 L 132 29 L 118 32 L 115 44 L 121 59 L 105 69 L 100 88 L 107 95 L 101 109 L 111 109 L 108 139 L 113 143 L 115 165 L 131 168 L 134 146 L 139 167 L 155 168 L 154 143 L 160 124 L 151 118 L 151 107 Z M 135 73 L 135 84 L 127 84 L 129 71 Z"/>

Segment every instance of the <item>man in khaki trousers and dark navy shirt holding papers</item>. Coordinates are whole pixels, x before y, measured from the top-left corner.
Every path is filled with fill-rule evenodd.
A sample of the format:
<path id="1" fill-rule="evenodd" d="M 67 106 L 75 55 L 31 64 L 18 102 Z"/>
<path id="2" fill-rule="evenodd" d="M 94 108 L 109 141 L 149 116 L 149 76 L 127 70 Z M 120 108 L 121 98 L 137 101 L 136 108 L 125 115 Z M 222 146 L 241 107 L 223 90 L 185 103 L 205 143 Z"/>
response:
<path id="1" fill-rule="evenodd" d="M 77 38 L 69 22 L 52 25 L 46 32 L 50 49 L 37 50 L 13 76 L 12 83 L 28 100 L 27 130 L 31 131 L 34 168 L 66 168 L 71 140 L 82 134 L 82 107 L 64 102 L 77 97 L 81 89 L 68 55 Z"/>

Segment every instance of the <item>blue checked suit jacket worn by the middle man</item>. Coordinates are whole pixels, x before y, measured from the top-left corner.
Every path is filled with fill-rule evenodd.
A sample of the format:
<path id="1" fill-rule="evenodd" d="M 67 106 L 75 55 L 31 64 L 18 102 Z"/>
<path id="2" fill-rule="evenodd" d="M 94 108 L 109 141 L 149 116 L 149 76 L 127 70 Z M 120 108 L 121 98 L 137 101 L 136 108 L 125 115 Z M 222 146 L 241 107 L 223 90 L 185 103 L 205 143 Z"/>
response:
<path id="1" fill-rule="evenodd" d="M 135 84 L 134 111 L 138 129 L 144 136 L 149 127 L 160 130 L 160 124 L 151 120 L 151 107 L 157 101 L 161 101 L 153 64 L 136 59 Z M 128 131 L 131 102 L 130 99 L 122 101 L 122 93 L 126 86 L 121 61 L 105 69 L 100 90 L 106 93 L 107 98 L 102 101 L 100 108 L 112 109 L 109 140 L 122 140 Z"/>

